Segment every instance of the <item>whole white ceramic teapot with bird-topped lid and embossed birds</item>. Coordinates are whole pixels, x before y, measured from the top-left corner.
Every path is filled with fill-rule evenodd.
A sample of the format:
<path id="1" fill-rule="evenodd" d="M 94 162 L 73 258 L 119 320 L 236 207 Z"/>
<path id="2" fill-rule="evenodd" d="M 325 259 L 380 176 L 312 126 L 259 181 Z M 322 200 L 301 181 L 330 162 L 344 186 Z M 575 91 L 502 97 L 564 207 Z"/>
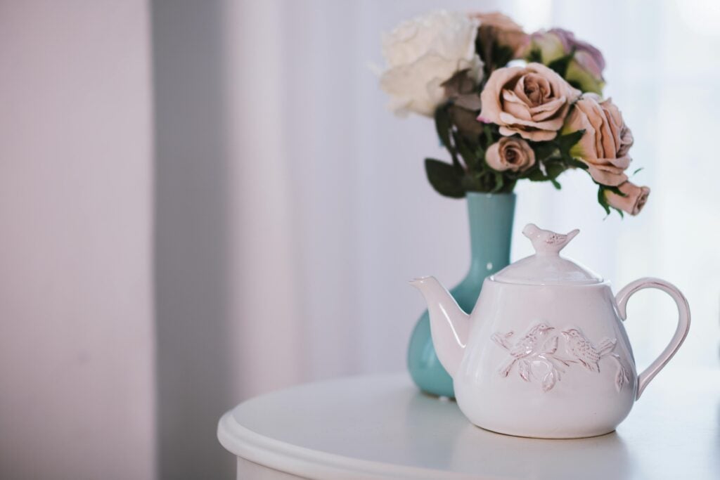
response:
<path id="1" fill-rule="evenodd" d="M 470 315 L 433 277 L 411 282 L 428 303 L 457 404 L 475 425 L 536 438 L 609 433 L 685 340 L 685 296 L 650 278 L 614 296 L 608 281 L 559 255 L 578 232 L 527 225 L 535 255 L 487 277 Z M 680 317 L 670 344 L 638 375 L 621 320 L 630 296 L 647 288 L 670 294 Z"/>

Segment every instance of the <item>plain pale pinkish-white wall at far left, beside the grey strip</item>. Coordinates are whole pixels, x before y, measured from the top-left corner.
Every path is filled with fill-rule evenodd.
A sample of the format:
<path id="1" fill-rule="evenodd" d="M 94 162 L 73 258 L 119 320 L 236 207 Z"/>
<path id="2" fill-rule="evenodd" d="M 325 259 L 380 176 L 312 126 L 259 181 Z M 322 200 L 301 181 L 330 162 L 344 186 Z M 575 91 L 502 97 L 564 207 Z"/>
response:
<path id="1" fill-rule="evenodd" d="M 143 0 L 0 2 L 0 478 L 151 479 Z"/>

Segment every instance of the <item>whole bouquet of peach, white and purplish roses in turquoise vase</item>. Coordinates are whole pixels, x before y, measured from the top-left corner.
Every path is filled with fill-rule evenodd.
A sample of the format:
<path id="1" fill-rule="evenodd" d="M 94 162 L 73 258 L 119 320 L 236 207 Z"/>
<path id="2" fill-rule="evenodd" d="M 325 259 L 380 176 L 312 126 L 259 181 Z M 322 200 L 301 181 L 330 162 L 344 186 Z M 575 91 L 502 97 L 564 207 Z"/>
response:
<path id="1" fill-rule="evenodd" d="M 562 29 L 531 35 L 499 13 L 433 12 L 383 38 L 380 85 L 397 114 L 434 117 L 451 163 L 425 160 L 438 193 L 509 193 L 518 180 L 549 181 L 581 168 L 598 201 L 635 215 L 649 195 L 626 172 L 630 129 L 603 99 L 605 60 Z"/>

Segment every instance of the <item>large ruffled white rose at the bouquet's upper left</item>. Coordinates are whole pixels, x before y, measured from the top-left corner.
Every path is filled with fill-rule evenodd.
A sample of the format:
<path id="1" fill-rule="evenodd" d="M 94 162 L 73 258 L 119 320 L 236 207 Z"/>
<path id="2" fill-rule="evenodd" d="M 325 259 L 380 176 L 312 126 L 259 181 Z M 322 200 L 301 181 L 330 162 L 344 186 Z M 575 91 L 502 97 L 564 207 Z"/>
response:
<path id="1" fill-rule="evenodd" d="M 380 86 L 392 96 L 390 109 L 400 115 L 433 116 L 445 100 L 442 83 L 456 72 L 467 69 L 480 81 L 482 60 L 475 53 L 479 25 L 466 14 L 440 11 L 402 22 L 383 35 L 388 66 Z"/>

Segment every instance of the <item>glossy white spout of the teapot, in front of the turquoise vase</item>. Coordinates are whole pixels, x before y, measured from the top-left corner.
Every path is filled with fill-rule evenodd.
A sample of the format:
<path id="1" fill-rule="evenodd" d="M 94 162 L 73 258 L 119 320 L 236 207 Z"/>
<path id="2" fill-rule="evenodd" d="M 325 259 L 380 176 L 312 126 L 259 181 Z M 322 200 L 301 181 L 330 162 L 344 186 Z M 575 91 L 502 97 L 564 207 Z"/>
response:
<path id="1" fill-rule="evenodd" d="M 469 315 L 462 311 L 450 292 L 435 277 L 421 277 L 411 281 L 410 285 L 420 290 L 425 297 L 435 351 L 442 366 L 454 378 L 467 345 Z"/>

